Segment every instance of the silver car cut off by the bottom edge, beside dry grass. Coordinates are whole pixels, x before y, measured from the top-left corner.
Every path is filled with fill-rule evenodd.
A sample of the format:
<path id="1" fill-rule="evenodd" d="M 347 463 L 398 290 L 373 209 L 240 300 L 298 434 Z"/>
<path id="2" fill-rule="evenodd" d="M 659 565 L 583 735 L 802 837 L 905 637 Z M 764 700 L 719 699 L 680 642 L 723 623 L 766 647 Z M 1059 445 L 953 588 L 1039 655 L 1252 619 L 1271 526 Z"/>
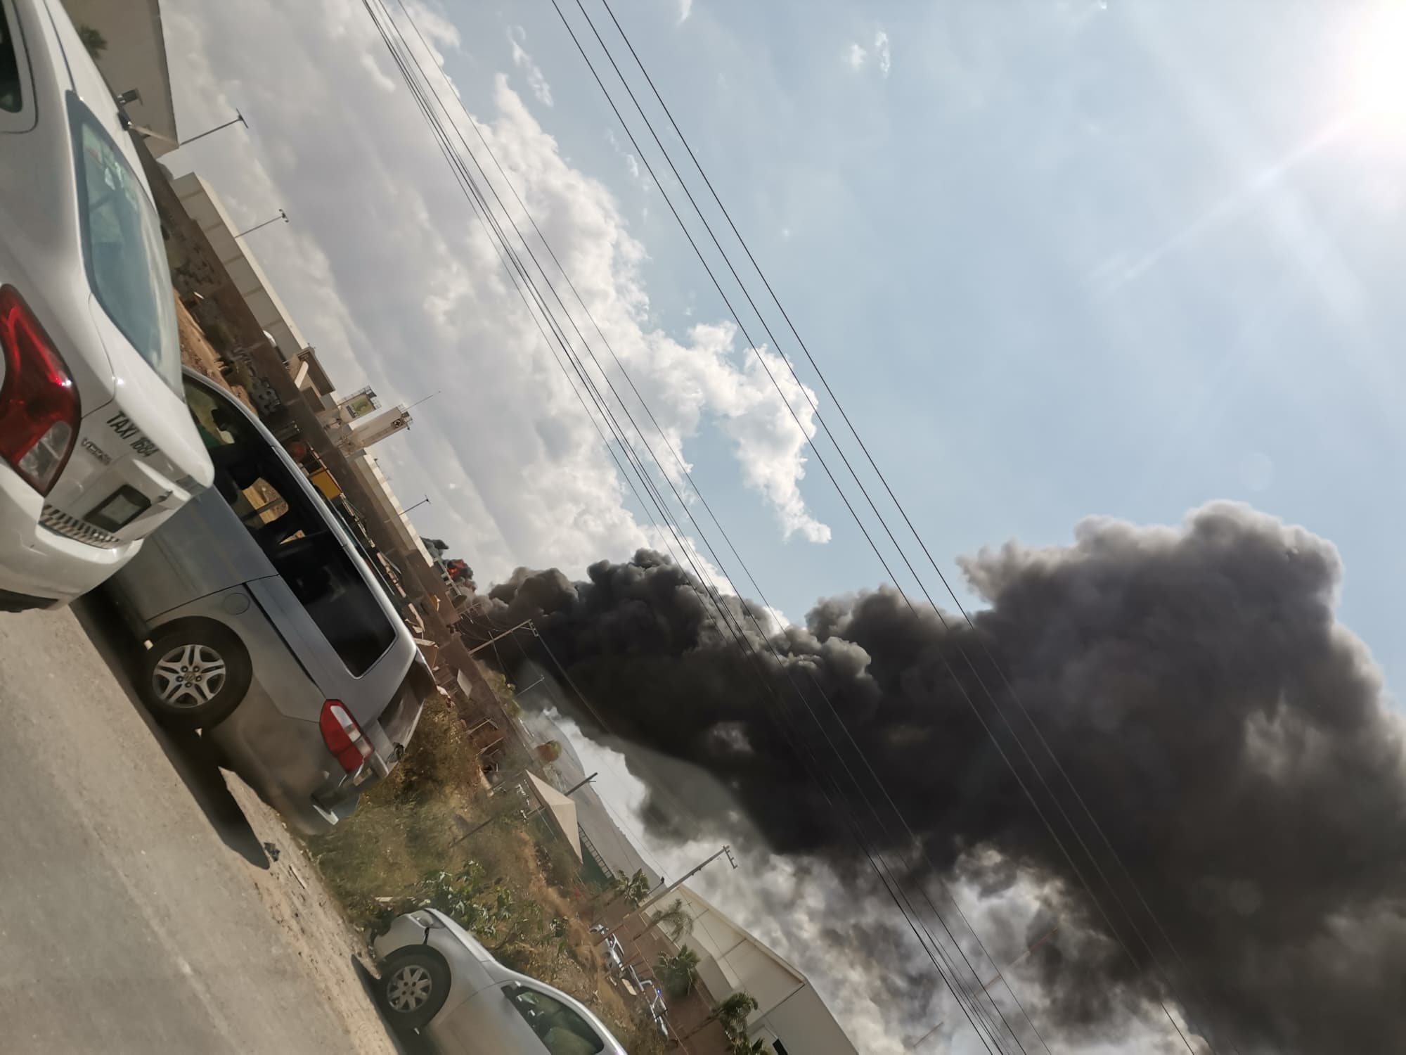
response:
<path id="1" fill-rule="evenodd" d="M 626 1055 L 585 1004 L 509 971 L 443 913 L 398 916 L 374 945 L 392 1021 L 446 1055 Z"/>

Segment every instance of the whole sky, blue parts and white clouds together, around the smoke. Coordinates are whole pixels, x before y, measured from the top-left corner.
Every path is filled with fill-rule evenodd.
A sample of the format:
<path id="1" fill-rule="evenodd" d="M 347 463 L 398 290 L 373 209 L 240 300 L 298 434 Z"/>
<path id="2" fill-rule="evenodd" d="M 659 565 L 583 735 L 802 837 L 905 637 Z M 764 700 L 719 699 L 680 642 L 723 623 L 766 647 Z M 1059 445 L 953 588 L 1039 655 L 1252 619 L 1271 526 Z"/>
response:
<path id="1" fill-rule="evenodd" d="M 1090 515 L 1243 499 L 1340 547 L 1344 622 L 1406 677 L 1400 6 L 613 6 L 945 570 Z M 550 0 L 416 10 L 768 599 L 800 619 L 877 585 Z M 250 124 L 170 167 L 240 225 L 287 208 L 249 246 L 340 388 L 444 390 L 377 449 L 404 504 L 430 497 L 416 526 L 484 585 L 659 544 L 361 4 L 167 0 L 163 18 L 183 134 L 235 107 Z M 672 868 L 696 847 L 655 850 Z M 740 875 L 710 896 L 754 921 L 794 904 L 801 940 L 778 941 L 797 959 L 845 896 Z M 935 1020 L 875 997 L 882 972 L 807 971 L 865 1051 L 903 1049 L 894 1016 Z"/>

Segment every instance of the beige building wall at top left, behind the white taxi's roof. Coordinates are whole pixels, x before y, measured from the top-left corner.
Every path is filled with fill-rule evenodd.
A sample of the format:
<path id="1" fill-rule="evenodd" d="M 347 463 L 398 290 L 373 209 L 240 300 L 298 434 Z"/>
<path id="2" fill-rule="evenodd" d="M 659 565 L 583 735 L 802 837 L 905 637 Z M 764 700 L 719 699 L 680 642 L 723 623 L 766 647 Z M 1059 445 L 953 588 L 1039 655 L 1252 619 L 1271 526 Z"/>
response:
<path id="1" fill-rule="evenodd" d="M 156 132 L 146 139 L 148 149 L 156 156 L 174 151 L 180 136 L 156 0 L 63 0 L 63 7 L 75 25 L 91 27 L 107 41 L 97 68 L 112 94 L 131 89 L 142 94 L 139 103 L 128 103 L 125 110 L 135 124 Z"/>

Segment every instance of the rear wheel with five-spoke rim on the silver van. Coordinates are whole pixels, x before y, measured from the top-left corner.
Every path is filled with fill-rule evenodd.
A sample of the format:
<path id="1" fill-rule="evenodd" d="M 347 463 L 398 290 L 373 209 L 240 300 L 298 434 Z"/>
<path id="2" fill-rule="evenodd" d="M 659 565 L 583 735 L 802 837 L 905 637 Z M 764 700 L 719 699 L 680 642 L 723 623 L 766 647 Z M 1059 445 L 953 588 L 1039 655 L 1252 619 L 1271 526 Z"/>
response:
<path id="1" fill-rule="evenodd" d="M 142 702 L 167 729 L 219 724 L 249 692 L 253 665 L 239 637 L 209 619 L 163 626 L 138 664 Z"/>

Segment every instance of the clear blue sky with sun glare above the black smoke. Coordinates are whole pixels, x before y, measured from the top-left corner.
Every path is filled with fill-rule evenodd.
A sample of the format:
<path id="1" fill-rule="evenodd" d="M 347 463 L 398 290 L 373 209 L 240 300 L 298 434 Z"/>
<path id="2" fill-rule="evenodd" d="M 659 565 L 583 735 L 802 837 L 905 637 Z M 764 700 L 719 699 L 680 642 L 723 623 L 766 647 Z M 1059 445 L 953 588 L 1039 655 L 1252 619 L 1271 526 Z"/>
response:
<path id="1" fill-rule="evenodd" d="M 614 7 L 934 553 L 1239 498 L 1334 540 L 1344 619 L 1406 663 L 1406 128 L 1348 117 L 1369 6 Z M 503 13 L 449 10 L 503 41 Z M 654 312 L 721 318 L 551 6 L 510 17 L 553 86 L 538 118 L 648 248 Z M 449 63 L 464 86 L 496 68 Z M 792 618 L 880 578 L 814 461 L 825 546 L 769 530 L 716 445 L 695 457 Z"/>

